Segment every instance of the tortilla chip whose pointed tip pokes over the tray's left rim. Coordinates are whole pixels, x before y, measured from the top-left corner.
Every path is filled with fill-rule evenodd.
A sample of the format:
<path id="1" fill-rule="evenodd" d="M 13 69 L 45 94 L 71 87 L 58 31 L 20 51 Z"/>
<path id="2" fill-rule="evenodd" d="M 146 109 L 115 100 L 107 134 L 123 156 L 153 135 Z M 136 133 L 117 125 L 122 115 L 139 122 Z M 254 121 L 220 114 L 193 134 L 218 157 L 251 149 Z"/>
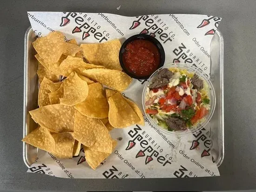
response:
<path id="1" fill-rule="evenodd" d="M 54 138 L 49 130 L 43 127 L 38 127 L 30 132 L 22 139 L 22 141 L 47 152 L 55 151 Z"/>

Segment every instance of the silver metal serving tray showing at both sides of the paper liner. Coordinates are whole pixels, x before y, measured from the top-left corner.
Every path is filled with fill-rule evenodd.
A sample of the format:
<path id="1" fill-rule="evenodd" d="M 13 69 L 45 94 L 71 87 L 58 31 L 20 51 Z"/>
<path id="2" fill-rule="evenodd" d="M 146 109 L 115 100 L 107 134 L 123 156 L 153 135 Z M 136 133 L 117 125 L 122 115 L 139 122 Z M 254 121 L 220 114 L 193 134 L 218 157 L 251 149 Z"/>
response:
<path id="1" fill-rule="evenodd" d="M 33 131 L 37 125 L 29 115 L 29 111 L 36 109 L 38 96 L 38 77 L 36 74 L 38 62 L 32 42 L 36 36 L 30 26 L 25 33 L 24 49 L 24 108 L 23 108 L 23 137 Z M 216 92 L 216 109 L 210 121 L 212 130 L 211 153 L 216 159 L 217 166 L 222 164 L 224 158 L 224 121 L 223 121 L 223 38 L 216 30 L 210 46 L 211 55 L 211 81 Z M 211 134 L 211 133 L 210 133 Z M 37 148 L 23 143 L 23 160 L 30 167 L 37 155 Z"/>

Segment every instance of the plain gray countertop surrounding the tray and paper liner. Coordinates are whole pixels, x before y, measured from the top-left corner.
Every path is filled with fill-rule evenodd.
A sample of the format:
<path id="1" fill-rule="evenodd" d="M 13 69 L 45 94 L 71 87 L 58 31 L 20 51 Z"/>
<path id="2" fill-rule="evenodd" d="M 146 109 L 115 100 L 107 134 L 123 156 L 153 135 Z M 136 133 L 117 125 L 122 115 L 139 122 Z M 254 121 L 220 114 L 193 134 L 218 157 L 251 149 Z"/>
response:
<path id="1" fill-rule="evenodd" d="M 121 5 L 120 10 L 116 7 Z M 245 0 L 1 0 L 0 190 L 183 191 L 256 189 L 256 1 Z M 224 38 L 225 157 L 220 177 L 193 179 L 59 179 L 26 173 L 22 105 L 26 11 L 142 15 L 199 13 L 222 17 Z"/>

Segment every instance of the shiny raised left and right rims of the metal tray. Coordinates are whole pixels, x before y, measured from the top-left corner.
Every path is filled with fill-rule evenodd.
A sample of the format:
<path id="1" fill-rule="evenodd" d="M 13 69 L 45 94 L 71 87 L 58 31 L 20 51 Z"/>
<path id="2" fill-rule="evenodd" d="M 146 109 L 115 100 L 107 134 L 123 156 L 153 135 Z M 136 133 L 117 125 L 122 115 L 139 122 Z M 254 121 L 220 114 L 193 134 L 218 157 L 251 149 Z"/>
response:
<path id="1" fill-rule="evenodd" d="M 24 86 L 23 86 L 23 138 L 28 134 L 27 132 L 27 125 L 26 125 L 26 119 L 27 119 L 27 85 L 28 85 L 28 79 L 27 79 L 27 44 L 28 44 L 28 35 L 32 31 L 32 26 L 29 26 L 25 32 L 24 35 Z M 220 62 L 221 62 L 221 68 L 220 68 L 220 90 L 221 90 L 221 119 L 220 119 L 220 155 L 219 158 L 216 160 L 217 167 L 221 166 L 223 159 L 224 159 L 224 86 L 223 86 L 223 36 L 222 33 L 216 29 L 216 34 L 220 38 Z M 27 145 L 26 143 L 22 142 L 23 145 L 23 161 L 25 165 L 29 168 L 32 164 L 27 159 Z"/>

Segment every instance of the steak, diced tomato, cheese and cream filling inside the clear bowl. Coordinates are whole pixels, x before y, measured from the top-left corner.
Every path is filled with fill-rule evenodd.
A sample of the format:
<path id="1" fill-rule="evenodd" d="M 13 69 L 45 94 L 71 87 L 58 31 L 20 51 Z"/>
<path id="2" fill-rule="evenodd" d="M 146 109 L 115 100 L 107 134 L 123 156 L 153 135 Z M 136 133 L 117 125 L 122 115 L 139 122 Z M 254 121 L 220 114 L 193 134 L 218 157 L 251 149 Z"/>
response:
<path id="1" fill-rule="evenodd" d="M 168 131 L 182 131 L 202 122 L 209 113 L 208 84 L 178 68 L 162 69 L 146 90 L 146 113 Z"/>

